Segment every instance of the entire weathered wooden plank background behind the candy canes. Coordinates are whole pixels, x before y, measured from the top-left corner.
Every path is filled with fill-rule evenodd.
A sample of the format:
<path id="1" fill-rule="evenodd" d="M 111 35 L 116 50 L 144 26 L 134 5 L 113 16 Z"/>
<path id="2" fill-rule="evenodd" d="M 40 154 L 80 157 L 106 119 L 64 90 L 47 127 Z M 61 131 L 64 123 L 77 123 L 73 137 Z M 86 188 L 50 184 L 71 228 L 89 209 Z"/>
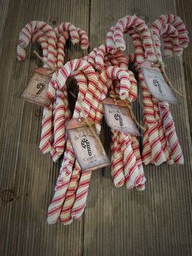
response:
<path id="1" fill-rule="evenodd" d="M 85 215 L 67 227 L 46 223 L 60 163 L 38 148 L 41 107 L 20 99 L 38 65 L 38 48 L 29 46 L 22 64 L 15 57 L 20 29 L 30 20 L 71 21 L 89 33 L 90 49 L 104 42 L 118 19 L 134 13 L 148 24 L 161 14 L 181 15 L 191 35 L 190 0 L 0 0 L 0 7 L 0 255 L 191 255 L 191 44 L 183 57 L 165 61 L 172 83 L 186 95 L 171 107 L 185 165 L 145 166 L 145 192 L 117 189 L 109 169 L 94 171 Z M 84 54 L 72 47 L 68 60 Z M 104 129 L 107 146 L 106 138 Z"/>

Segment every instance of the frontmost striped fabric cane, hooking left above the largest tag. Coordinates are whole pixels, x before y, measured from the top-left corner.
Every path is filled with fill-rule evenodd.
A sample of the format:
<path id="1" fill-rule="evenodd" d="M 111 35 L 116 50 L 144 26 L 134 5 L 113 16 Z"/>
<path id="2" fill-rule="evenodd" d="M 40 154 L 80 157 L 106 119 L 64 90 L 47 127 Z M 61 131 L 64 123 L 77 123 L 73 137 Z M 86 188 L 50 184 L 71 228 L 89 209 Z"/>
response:
<path id="1" fill-rule="evenodd" d="M 95 108 L 97 108 L 98 106 L 98 103 L 93 101 L 94 94 L 96 92 L 96 86 L 98 84 L 98 77 L 94 72 L 94 69 L 85 60 L 69 61 L 67 64 L 63 66 L 63 68 L 60 68 L 59 71 L 55 73 L 52 79 L 52 82 L 50 82 L 48 95 L 50 96 L 51 99 L 53 99 L 55 97 L 55 90 L 58 90 L 58 89 L 62 90 L 68 76 L 76 70 L 80 70 L 82 73 L 84 73 L 88 80 L 88 89 L 86 90 L 85 98 L 81 104 L 82 108 L 85 108 L 85 111 L 83 111 L 83 113 L 81 112 L 82 116 L 85 113 L 85 117 L 88 117 L 89 120 L 94 121 L 96 115 L 93 112 L 91 105 L 94 105 Z M 93 104 L 94 102 L 95 104 Z M 80 117 L 81 117 L 81 113 L 80 113 Z M 60 212 L 62 210 L 63 201 L 65 199 L 68 185 L 72 176 L 72 166 L 74 165 L 75 157 L 74 157 L 74 152 L 72 150 L 72 146 L 70 143 L 68 145 L 68 143 L 67 143 L 68 151 L 67 149 L 66 151 L 70 152 L 70 156 L 72 157 L 71 158 L 72 165 L 70 165 L 70 170 L 68 170 L 68 155 L 66 155 L 66 152 L 65 152 L 64 159 L 63 159 L 64 163 L 60 170 L 62 172 L 62 175 L 60 175 L 60 179 L 63 177 L 63 183 L 61 183 L 56 188 L 55 196 L 48 210 L 48 218 L 47 218 L 48 223 L 55 223 L 56 221 L 58 221 Z M 66 163 L 67 163 L 67 166 L 66 166 Z"/>

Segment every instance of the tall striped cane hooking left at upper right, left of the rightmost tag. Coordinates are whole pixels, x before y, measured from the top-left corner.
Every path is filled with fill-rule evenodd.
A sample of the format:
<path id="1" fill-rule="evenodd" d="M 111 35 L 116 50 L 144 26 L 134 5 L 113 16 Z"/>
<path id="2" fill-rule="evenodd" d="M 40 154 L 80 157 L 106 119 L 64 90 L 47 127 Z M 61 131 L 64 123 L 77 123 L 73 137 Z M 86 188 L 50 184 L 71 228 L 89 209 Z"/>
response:
<path id="1" fill-rule="evenodd" d="M 155 60 L 155 51 L 151 40 L 150 30 L 147 28 L 145 22 L 135 15 L 126 16 L 119 20 L 115 26 L 113 38 L 116 47 L 120 47 L 121 50 L 125 49 L 123 33 L 133 33 L 135 38 L 133 40 L 135 46 L 135 53 L 137 56 L 137 62 L 141 64 L 145 57 L 147 60 Z M 142 41 L 141 39 L 142 38 Z M 143 51 L 143 47 L 145 51 Z M 142 62 L 141 62 L 142 61 Z M 138 68 L 139 66 L 137 66 Z M 151 151 L 151 157 L 144 157 L 145 163 L 149 161 L 156 165 L 166 161 L 162 144 L 159 138 L 159 124 L 155 119 L 155 112 L 151 94 L 146 89 L 146 85 L 143 79 L 142 71 L 139 72 L 140 81 L 142 81 L 142 95 L 143 95 L 143 116 L 144 121 L 147 124 L 147 131 L 144 133 L 148 137 L 148 141 L 144 138 L 145 145 L 147 146 L 147 153 Z M 150 150 L 149 150 L 150 149 Z M 143 150 L 145 152 L 145 148 Z"/>

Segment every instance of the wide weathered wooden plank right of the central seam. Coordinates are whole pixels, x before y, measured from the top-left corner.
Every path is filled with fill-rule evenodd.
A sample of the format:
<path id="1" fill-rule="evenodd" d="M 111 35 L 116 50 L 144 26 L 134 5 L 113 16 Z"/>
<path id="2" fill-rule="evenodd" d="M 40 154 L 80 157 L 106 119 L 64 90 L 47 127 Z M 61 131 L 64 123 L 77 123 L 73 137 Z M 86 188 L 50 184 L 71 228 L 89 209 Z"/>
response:
<path id="1" fill-rule="evenodd" d="M 151 24 L 168 12 L 176 13 L 172 1 L 92 1 L 90 40 L 94 46 L 103 43 L 107 29 L 126 14 L 136 13 Z M 165 63 L 173 84 L 185 93 L 181 58 Z M 190 255 L 190 126 L 186 102 L 180 101 L 178 107 L 171 109 L 185 166 L 145 166 L 145 192 L 114 188 L 107 175 L 104 178 L 102 172 L 94 172 L 85 210 L 86 256 Z"/>

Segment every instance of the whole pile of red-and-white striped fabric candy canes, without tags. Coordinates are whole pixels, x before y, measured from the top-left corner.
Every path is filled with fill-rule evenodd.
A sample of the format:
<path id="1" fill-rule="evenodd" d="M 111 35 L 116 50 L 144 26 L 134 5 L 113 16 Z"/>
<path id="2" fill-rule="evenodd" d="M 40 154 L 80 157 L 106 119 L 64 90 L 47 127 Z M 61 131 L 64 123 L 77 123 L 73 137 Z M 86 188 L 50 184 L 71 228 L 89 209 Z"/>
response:
<path id="1" fill-rule="evenodd" d="M 127 56 L 124 55 L 124 33 L 133 39 L 134 46 L 134 52 Z M 53 161 L 63 157 L 47 221 L 56 223 L 60 219 L 65 225 L 74 218 L 81 218 L 92 173 L 92 170 L 81 170 L 66 133 L 66 124 L 72 118 L 85 117 L 95 125 L 99 135 L 103 99 L 123 100 L 132 109 L 137 100 L 137 86 L 141 86 L 142 154 L 137 135 L 111 130 L 111 177 L 117 188 L 125 185 L 128 189 L 144 190 L 146 177 L 142 164 L 184 163 L 169 105 L 151 95 L 142 64 L 148 60 L 164 71 L 162 55 L 180 56 L 189 43 L 185 24 L 172 14 L 161 15 L 150 28 L 136 15 L 127 15 L 111 27 L 105 44 L 95 47 L 81 60 L 64 63 L 68 40 L 74 45 L 80 44 L 82 50 L 89 47 L 85 31 L 71 23 L 63 22 L 53 29 L 46 22 L 32 21 L 21 30 L 17 46 L 17 58 L 23 61 L 28 44 L 38 42 L 43 67 L 53 73 L 47 90 L 51 104 L 43 110 L 40 148 L 43 153 L 50 152 Z M 130 64 L 137 71 L 137 80 L 129 70 Z M 79 89 L 73 113 L 68 102 L 68 77 L 76 79 Z"/>

